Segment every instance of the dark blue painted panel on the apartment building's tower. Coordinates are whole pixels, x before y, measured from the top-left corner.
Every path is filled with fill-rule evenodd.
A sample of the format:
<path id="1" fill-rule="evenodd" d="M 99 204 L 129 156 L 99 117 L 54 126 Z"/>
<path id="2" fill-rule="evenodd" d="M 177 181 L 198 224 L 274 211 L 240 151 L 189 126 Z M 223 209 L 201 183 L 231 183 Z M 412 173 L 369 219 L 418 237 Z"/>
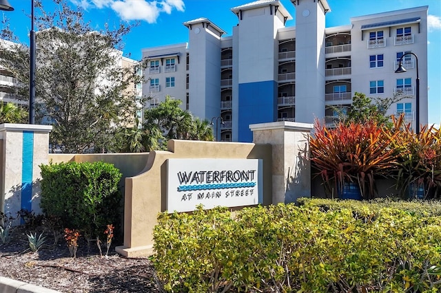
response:
<path id="1" fill-rule="evenodd" d="M 277 83 L 274 80 L 239 84 L 238 141 L 252 142 L 249 124 L 274 122 L 277 118 Z"/>

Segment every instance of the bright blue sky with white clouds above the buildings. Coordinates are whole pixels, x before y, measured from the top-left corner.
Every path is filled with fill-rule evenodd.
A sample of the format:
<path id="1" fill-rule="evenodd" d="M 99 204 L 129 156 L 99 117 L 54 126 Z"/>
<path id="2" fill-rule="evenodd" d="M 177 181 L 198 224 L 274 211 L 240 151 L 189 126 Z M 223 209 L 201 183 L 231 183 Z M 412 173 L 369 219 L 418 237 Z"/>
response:
<path id="1" fill-rule="evenodd" d="M 12 12 L 2 12 L 10 22 L 10 28 L 23 43 L 28 42 L 30 30 L 31 0 L 8 0 Z M 52 0 L 41 0 L 45 10 L 56 8 Z M 183 25 L 200 17 L 206 17 L 232 35 L 238 23 L 231 8 L 254 0 L 67 0 L 72 6 L 85 10 L 85 20 L 99 30 L 107 23 L 112 27 L 121 22 L 139 25 L 124 40 L 124 55 L 141 59 L 141 50 L 147 47 L 186 43 L 188 29 Z M 295 7 L 289 0 L 280 0 L 294 20 Z M 349 25 L 351 17 L 366 14 L 429 6 L 428 61 L 429 61 L 429 124 L 441 122 L 441 0 L 327 0 L 331 12 L 326 14 L 326 27 Z M 37 10 L 36 12 L 37 13 Z M 2 25 L 2 24 L 0 24 Z"/>

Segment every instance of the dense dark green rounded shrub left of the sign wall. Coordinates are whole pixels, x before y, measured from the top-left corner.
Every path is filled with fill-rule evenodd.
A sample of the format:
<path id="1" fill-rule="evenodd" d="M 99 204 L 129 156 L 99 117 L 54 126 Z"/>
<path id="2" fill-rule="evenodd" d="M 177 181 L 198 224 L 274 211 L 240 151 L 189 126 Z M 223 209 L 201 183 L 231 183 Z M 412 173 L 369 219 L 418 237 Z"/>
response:
<path id="1" fill-rule="evenodd" d="M 121 173 L 104 162 L 67 162 L 41 165 L 41 209 L 59 217 L 88 239 L 103 237 L 107 224 L 120 221 Z"/>

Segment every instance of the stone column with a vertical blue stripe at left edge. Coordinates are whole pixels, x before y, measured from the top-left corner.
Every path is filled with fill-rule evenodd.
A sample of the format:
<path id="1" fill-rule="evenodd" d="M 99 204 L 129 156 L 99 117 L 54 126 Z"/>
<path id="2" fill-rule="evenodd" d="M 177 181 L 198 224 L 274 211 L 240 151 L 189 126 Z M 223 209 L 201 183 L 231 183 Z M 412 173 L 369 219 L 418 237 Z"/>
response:
<path id="1" fill-rule="evenodd" d="M 41 213 L 40 164 L 48 164 L 52 126 L 0 124 L 0 211 L 13 217 L 21 209 Z"/>

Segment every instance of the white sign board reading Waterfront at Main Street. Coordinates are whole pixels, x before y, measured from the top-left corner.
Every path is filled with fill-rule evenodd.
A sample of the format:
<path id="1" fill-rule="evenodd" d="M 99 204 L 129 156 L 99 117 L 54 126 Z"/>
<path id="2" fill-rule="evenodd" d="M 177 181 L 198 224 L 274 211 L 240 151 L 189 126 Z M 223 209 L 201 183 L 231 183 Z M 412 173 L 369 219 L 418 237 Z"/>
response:
<path id="1" fill-rule="evenodd" d="M 167 210 L 189 212 L 202 204 L 250 206 L 263 202 L 260 159 L 168 159 Z"/>

